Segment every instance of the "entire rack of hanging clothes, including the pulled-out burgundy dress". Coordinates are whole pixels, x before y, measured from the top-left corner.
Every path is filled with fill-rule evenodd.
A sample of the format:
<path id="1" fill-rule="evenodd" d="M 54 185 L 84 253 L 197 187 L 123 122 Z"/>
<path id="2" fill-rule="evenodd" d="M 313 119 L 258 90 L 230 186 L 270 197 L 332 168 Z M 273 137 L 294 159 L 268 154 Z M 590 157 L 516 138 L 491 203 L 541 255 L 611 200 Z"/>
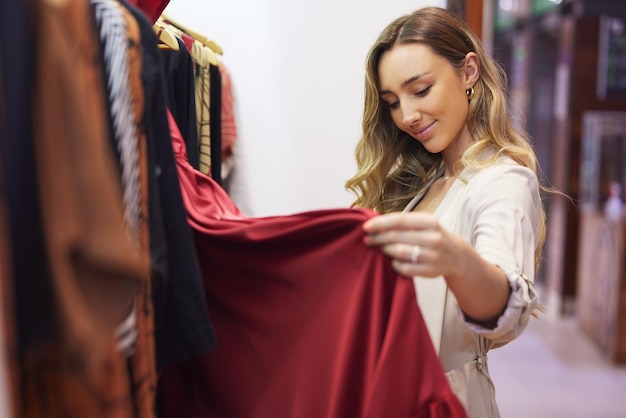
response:
<path id="1" fill-rule="evenodd" d="M 230 74 L 191 31 L 159 48 L 167 4 L 0 4 L 0 413 L 465 417 L 373 211 L 220 187 Z"/>

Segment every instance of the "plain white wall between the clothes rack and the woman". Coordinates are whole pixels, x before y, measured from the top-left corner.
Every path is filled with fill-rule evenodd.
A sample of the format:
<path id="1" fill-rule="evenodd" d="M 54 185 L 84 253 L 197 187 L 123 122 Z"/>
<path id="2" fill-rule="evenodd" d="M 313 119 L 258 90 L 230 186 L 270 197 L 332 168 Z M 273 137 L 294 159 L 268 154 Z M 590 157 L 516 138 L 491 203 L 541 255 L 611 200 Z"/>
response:
<path id="1" fill-rule="evenodd" d="M 350 204 L 367 51 L 395 17 L 445 4 L 171 0 L 164 13 L 224 50 L 239 130 L 231 196 L 244 213 Z"/>

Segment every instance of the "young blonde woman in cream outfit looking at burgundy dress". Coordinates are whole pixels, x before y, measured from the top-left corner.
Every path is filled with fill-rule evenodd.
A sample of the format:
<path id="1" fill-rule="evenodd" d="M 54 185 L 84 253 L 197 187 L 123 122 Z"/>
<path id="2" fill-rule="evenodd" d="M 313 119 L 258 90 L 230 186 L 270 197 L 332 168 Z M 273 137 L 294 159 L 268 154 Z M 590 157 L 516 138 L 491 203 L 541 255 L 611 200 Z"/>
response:
<path id="1" fill-rule="evenodd" d="M 545 223 L 537 161 L 509 115 L 505 77 L 454 14 L 387 26 L 367 61 L 353 206 L 417 299 L 471 418 L 498 417 L 487 352 L 521 334 Z"/>

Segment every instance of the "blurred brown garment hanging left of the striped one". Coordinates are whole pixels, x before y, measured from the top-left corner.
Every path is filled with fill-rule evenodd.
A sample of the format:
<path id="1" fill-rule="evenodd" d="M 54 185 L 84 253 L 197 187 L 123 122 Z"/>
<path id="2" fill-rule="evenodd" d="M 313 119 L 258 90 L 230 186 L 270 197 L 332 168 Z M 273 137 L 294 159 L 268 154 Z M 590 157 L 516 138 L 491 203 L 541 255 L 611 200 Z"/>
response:
<path id="1" fill-rule="evenodd" d="M 30 169 L 37 174 L 46 257 L 30 262 L 49 269 L 52 308 L 31 309 L 55 326 L 51 337 L 20 353 L 18 409 L 22 417 L 132 417 L 126 359 L 113 330 L 147 277 L 149 254 L 124 230 L 93 16 L 83 1 L 33 7 Z M 16 290 L 17 303 L 28 298 Z"/>

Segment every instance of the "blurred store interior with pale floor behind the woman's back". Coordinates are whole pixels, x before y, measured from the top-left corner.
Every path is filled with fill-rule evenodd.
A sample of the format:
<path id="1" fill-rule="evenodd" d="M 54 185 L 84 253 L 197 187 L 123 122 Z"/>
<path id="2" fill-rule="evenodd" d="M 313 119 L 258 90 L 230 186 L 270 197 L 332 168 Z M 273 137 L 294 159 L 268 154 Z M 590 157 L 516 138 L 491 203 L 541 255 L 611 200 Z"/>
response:
<path id="1" fill-rule="evenodd" d="M 565 194 L 546 198 L 546 314 L 491 354 L 503 416 L 623 416 L 626 2 L 476 3 L 544 182 Z"/>

